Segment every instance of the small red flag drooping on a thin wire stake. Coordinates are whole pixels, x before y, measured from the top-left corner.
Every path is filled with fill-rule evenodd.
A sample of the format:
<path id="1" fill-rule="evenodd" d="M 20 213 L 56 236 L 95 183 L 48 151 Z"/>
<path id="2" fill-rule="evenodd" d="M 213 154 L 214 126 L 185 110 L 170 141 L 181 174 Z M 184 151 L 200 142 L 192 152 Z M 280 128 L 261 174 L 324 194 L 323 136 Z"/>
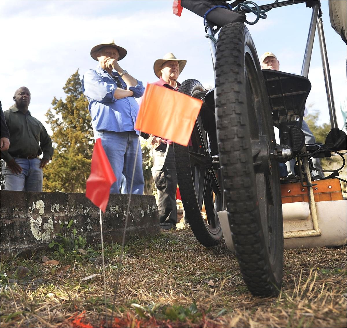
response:
<path id="1" fill-rule="evenodd" d="M 86 197 L 104 213 L 110 197 L 111 185 L 116 181 L 115 173 L 102 148 L 101 139 L 98 138 L 93 149 L 90 176 L 86 184 Z"/>

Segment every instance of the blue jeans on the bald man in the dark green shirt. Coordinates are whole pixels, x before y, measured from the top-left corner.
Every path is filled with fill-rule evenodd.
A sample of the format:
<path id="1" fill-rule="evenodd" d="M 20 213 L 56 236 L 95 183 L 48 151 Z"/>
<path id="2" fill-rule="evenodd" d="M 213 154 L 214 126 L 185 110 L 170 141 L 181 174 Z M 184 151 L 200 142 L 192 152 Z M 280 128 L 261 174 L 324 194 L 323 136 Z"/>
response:
<path id="1" fill-rule="evenodd" d="M 6 163 L 2 166 L 5 190 L 42 191 L 43 173 L 40 169 L 40 159 L 15 158 L 15 161 L 22 167 L 22 172 L 19 174 L 12 173 Z"/>

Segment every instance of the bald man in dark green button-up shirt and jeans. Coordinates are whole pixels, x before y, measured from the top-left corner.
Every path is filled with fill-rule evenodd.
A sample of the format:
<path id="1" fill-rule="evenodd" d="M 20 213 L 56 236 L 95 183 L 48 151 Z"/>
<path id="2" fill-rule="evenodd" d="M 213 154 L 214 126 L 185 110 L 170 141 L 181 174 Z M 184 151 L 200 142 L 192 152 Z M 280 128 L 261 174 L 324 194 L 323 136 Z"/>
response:
<path id="1" fill-rule="evenodd" d="M 1 152 L 5 190 L 42 191 L 42 169 L 53 156 L 50 136 L 28 111 L 30 99 L 28 88 L 21 87 L 13 97 L 15 104 L 4 112 L 10 132 L 10 147 Z"/>

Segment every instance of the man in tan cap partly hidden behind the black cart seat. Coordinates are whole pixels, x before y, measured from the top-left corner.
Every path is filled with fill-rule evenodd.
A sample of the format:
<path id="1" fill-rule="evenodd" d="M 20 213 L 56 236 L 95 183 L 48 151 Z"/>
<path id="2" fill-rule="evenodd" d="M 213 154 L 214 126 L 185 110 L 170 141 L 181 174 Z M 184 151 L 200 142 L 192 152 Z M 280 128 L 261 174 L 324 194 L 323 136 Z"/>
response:
<path id="1" fill-rule="evenodd" d="M 276 71 L 280 70 L 280 62 L 278 61 L 277 57 L 272 52 L 265 52 L 260 57 L 260 64 L 262 69 L 274 69 Z M 306 108 L 305 108 L 305 114 L 306 115 Z M 314 138 L 313 133 L 311 132 L 310 128 L 308 127 L 307 123 L 303 120 L 303 124 L 301 129 L 304 132 L 306 144 L 314 144 L 316 142 L 316 139 Z M 321 162 L 319 158 L 312 158 L 313 166 L 316 169 L 322 170 Z M 295 159 L 292 159 L 289 162 L 286 162 L 287 168 L 288 168 L 288 176 L 294 175 L 294 164 Z M 312 171 L 312 176 L 320 175 L 322 178 L 324 178 L 324 174 L 321 171 Z"/>

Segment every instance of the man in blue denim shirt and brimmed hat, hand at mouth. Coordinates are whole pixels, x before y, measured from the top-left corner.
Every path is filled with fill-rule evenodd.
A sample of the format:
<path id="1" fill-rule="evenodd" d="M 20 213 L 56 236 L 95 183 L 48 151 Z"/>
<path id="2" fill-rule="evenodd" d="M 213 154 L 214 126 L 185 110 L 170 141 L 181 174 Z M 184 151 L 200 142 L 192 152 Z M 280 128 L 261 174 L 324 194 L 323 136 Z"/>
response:
<path id="1" fill-rule="evenodd" d="M 118 61 L 126 54 L 127 51 L 113 40 L 92 48 L 91 56 L 99 65 L 85 72 L 83 93 L 89 101 L 94 137 L 101 138 L 117 178 L 110 192 L 119 193 L 121 189 L 121 193 L 130 193 L 137 152 L 132 193 L 142 195 L 142 152 L 138 143 L 139 132 L 134 127 L 139 109 L 135 98 L 143 95 L 144 87 L 142 82 L 120 68 Z"/>

